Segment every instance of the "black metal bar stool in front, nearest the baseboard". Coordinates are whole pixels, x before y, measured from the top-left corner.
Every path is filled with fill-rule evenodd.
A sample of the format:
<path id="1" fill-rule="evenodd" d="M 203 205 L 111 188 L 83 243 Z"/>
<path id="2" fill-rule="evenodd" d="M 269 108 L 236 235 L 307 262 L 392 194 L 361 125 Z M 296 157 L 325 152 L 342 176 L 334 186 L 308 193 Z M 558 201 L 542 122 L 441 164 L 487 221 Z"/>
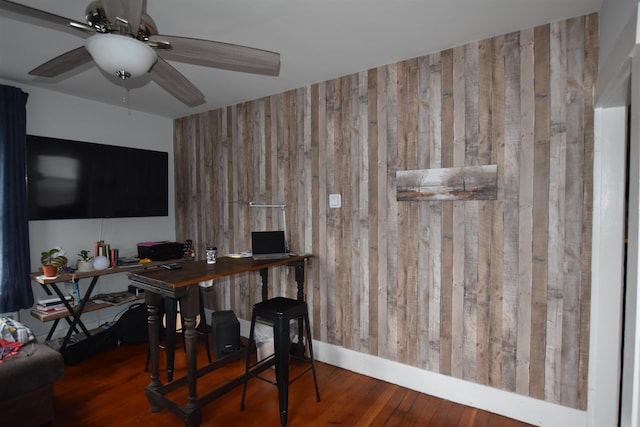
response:
<path id="1" fill-rule="evenodd" d="M 249 349 L 254 344 L 254 330 L 257 319 L 267 320 L 273 323 L 274 349 L 275 353 L 268 358 L 251 365 L 251 352 L 247 351 L 247 361 L 244 374 L 244 389 L 242 390 L 242 402 L 240 410 L 244 410 L 244 399 L 247 393 L 247 381 L 250 377 L 256 377 L 278 387 L 278 401 L 280 405 L 280 424 L 284 427 L 287 425 L 287 412 L 289 408 L 289 384 L 300 378 L 305 373 L 311 371 L 313 373 L 313 384 L 316 389 L 316 401 L 320 402 L 320 392 L 318 391 L 318 381 L 316 379 L 316 367 L 313 359 L 313 345 L 311 343 L 311 327 L 309 326 L 309 312 L 307 303 L 295 299 L 275 297 L 263 302 L 259 302 L 253 306 L 253 314 L 251 316 L 251 330 L 249 332 Z M 289 380 L 289 357 L 290 357 L 290 335 L 289 322 L 292 319 L 302 318 L 304 329 L 307 332 L 307 343 L 309 345 L 309 361 L 310 366 Z M 298 333 L 298 340 L 302 339 L 302 331 Z M 273 360 L 275 358 L 275 360 Z M 266 368 L 273 365 L 276 367 L 276 381 L 273 382 L 260 376 Z M 256 368 L 256 369 L 254 369 Z"/>

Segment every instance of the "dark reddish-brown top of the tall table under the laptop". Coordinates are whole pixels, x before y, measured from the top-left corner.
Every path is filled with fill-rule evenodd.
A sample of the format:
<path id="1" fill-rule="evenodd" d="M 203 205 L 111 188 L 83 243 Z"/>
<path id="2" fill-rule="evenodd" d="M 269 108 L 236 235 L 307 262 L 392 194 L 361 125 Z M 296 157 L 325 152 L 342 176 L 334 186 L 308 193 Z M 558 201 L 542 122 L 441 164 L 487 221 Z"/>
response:
<path id="1" fill-rule="evenodd" d="M 163 267 L 132 272 L 129 278 L 136 282 L 160 285 L 173 289 L 194 285 L 207 280 L 220 279 L 265 268 L 304 261 L 311 255 L 292 255 L 284 259 L 254 260 L 253 258 L 220 257 L 215 264 L 206 261 L 183 262 L 182 268 L 167 270 Z"/>

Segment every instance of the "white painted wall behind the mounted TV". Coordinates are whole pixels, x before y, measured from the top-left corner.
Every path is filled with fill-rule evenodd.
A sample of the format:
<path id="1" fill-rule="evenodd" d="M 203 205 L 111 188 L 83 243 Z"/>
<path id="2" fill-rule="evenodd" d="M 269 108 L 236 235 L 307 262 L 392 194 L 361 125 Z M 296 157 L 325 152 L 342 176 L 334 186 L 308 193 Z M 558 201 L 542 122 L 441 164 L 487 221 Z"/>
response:
<path id="1" fill-rule="evenodd" d="M 136 244 L 150 240 L 175 239 L 174 184 L 173 184 L 173 121 L 129 110 L 126 106 L 106 104 L 63 95 L 28 85 L 9 81 L 0 83 L 21 88 L 29 94 L 27 100 L 27 133 L 118 146 L 166 151 L 169 153 L 169 216 L 123 219 L 85 219 L 30 221 L 29 245 L 31 269 L 40 265 L 40 252 L 61 246 L 70 263 L 78 259 L 81 249 L 93 251 L 98 240 L 104 240 L 112 248 L 118 248 L 122 256 L 135 255 Z M 135 103 L 135 99 L 131 99 Z M 150 183 L 149 185 L 152 185 Z M 80 282 L 86 289 L 88 281 Z M 83 285 L 83 286 L 82 286 Z M 127 289 L 124 274 L 104 276 L 98 281 L 95 293 Z M 36 298 L 44 296 L 40 285 L 33 283 Z M 96 327 L 116 317 L 122 307 L 106 309 L 83 315 L 87 327 Z M 52 323 L 41 323 L 33 318 L 30 310 L 20 312 L 20 321 L 31 327 L 43 340 Z M 55 336 L 65 331 L 64 322 L 58 326 Z"/>

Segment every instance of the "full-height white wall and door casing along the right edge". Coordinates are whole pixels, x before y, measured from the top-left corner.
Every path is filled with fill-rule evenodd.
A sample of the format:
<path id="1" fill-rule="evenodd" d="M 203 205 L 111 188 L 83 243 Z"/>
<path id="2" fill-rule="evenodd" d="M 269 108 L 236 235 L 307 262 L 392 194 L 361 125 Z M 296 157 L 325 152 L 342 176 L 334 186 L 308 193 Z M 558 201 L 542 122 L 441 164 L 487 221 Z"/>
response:
<path id="1" fill-rule="evenodd" d="M 592 328 L 589 360 L 590 426 L 637 426 L 640 423 L 640 55 L 638 3 L 605 0 L 600 12 L 600 62 L 595 87 L 596 129 L 593 215 Z M 629 198 L 625 212 L 624 182 L 627 106 L 630 105 Z M 628 218 L 628 219 L 627 219 Z M 628 221 L 626 294 L 622 294 L 620 256 Z M 623 298 L 623 363 L 620 363 Z M 619 384 L 622 381 L 620 392 Z M 615 399 L 613 399 L 615 397 Z M 613 416 L 616 416 L 613 419 Z"/>

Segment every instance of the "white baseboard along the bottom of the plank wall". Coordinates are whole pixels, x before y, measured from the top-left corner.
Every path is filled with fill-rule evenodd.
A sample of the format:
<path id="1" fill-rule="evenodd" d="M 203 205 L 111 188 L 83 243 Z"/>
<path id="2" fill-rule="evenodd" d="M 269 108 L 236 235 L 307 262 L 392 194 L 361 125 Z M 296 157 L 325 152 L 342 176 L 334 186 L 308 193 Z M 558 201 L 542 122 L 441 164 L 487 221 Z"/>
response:
<path id="1" fill-rule="evenodd" d="M 240 334 L 247 337 L 249 321 L 239 321 Z M 313 352 L 320 362 L 529 424 L 552 427 L 587 425 L 586 411 L 436 374 L 316 340 L 313 340 Z"/>

